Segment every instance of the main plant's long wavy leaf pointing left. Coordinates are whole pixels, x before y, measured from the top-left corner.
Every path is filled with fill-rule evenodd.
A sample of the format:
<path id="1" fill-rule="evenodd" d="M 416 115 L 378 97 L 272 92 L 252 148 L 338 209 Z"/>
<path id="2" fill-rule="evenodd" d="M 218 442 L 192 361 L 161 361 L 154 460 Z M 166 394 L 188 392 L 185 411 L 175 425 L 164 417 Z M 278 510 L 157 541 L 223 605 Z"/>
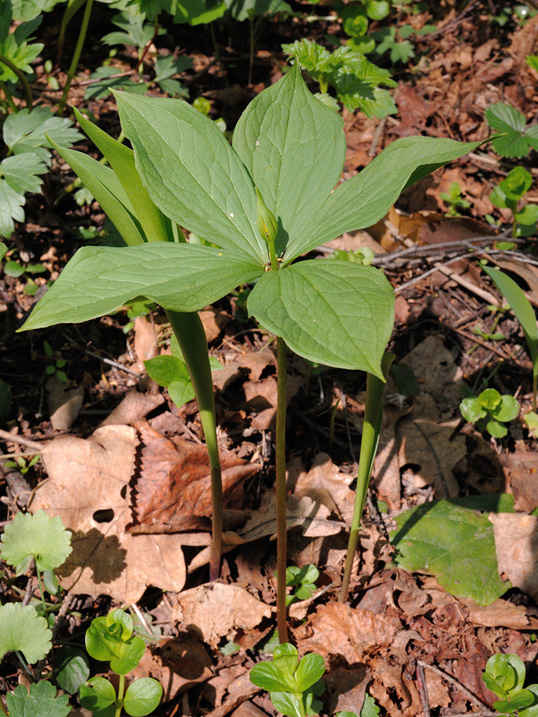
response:
<path id="1" fill-rule="evenodd" d="M 144 296 L 173 311 L 198 311 L 261 273 L 229 252 L 152 242 L 84 247 L 37 304 L 24 329 L 79 323 Z"/>

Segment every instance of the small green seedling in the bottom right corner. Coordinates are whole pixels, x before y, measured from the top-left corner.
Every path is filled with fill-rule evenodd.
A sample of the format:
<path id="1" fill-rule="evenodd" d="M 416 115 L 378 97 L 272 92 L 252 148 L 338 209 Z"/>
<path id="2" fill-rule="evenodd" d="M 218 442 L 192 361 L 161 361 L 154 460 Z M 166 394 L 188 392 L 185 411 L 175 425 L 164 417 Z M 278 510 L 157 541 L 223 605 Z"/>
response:
<path id="1" fill-rule="evenodd" d="M 493 709 L 502 714 L 518 714 L 519 717 L 538 715 L 538 685 L 525 683 L 525 664 L 517 655 L 493 655 L 489 658 L 482 675 L 488 690 L 500 700 Z"/>

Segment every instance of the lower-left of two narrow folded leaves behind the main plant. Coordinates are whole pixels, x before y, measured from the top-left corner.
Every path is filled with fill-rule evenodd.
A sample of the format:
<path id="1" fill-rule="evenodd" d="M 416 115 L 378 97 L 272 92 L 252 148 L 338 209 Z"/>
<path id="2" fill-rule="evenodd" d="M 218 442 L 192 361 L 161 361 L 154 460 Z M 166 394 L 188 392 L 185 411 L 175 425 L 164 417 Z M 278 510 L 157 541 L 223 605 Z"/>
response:
<path id="1" fill-rule="evenodd" d="M 88 154 L 65 149 L 56 144 L 54 148 L 97 199 L 124 242 L 128 246 L 143 244 L 146 240 L 144 231 L 129 197 L 113 170 Z"/>

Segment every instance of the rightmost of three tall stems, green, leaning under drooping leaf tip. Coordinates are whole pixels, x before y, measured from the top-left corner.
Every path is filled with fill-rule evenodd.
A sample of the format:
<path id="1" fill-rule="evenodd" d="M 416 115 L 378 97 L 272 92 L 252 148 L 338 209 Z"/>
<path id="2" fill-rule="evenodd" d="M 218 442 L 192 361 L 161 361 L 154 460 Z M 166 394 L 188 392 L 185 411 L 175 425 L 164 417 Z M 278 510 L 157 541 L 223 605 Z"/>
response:
<path id="1" fill-rule="evenodd" d="M 383 357 L 382 368 L 385 375 L 388 373 L 393 358 L 391 354 L 387 353 Z M 385 383 L 380 378 L 371 373 L 367 374 L 366 406 L 364 409 L 364 425 L 362 429 L 357 488 L 355 489 L 355 506 L 347 545 L 346 567 L 344 569 L 344 577 L 342 578 L 342 587 L 338 595 L 340 602 L 344 602 L 347 597 L 349 581 L 351 580 L 351 570 L 353 568 L 353 559 L 359 542 L 362 511 L 364 509 L 368 484 L 370 483 L 377 444 L 379 442 L 379 433 L 381 431 L 384 386 Z"/>

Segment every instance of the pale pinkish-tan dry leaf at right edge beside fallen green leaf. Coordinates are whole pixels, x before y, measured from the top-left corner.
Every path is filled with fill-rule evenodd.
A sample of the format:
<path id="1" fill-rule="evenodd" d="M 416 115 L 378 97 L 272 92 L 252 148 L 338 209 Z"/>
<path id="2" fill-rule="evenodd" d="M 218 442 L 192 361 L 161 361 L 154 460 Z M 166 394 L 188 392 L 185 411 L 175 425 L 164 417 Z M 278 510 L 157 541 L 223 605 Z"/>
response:
<path id="1" fill-rule="evenodd" d="M 499 573 L 538 600 L 538 517 L 490 513 Z"/>

